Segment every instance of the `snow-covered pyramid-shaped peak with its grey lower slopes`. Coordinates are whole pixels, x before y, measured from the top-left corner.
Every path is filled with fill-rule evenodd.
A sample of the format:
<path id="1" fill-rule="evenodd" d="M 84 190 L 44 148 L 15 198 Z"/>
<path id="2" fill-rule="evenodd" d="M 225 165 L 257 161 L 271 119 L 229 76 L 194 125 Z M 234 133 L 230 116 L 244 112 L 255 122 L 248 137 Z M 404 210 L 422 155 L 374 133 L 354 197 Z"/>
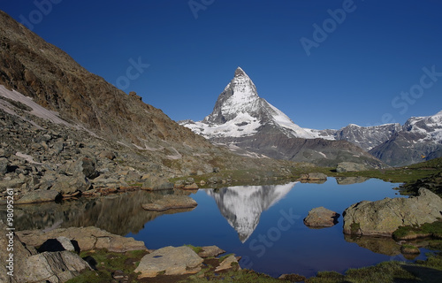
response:
<path id="1" fill-rule="evenodd" d="M 350 142 L 319 138 L 320 133 L 294 124 L 286 114 L 258 96 L 255 84 L 240 67 L 218 96 L 209 116 L 200 122 L 179 123 L 243 155 L 326 166 L 341 161 L 382 165 Z"/>

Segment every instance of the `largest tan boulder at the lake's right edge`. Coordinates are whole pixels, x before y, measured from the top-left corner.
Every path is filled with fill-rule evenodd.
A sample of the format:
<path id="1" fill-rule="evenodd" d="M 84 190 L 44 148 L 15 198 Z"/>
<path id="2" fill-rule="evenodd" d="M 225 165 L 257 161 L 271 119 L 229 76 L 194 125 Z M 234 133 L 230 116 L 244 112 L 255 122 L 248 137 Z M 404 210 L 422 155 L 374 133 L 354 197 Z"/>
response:
<path id="1" fill-rule="evenodd" d="M 399 226 L 421 226 L 442 217 L 442 199 L 420 188 L 418 196 L 354 203 L 344 211 L 344 233 L 391 236 Z"/>

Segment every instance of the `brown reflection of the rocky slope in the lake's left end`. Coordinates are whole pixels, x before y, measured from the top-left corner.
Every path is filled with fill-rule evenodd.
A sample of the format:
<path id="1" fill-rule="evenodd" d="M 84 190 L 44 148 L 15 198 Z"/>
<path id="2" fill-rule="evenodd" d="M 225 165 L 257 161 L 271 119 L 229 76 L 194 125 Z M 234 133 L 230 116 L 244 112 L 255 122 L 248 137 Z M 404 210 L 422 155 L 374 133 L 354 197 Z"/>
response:
<path id="1" fill-rule="evenodd" d="M 17 205 L 14 224 L 18 231 L 95 226 L 118 235 L 138 233 L 147 222 L 158 216 L 189 211 L 157 212 L 142 209 L 143 203 L 152 203 L 162 197 L 161 194 L 173 194 L 173 191 L 163 191 L 156 194 L 136 191 L 93 199 L 80 198 L 77 201 L 64 203 Z M 2 215 L 6 215 L 6 213 Z"/>

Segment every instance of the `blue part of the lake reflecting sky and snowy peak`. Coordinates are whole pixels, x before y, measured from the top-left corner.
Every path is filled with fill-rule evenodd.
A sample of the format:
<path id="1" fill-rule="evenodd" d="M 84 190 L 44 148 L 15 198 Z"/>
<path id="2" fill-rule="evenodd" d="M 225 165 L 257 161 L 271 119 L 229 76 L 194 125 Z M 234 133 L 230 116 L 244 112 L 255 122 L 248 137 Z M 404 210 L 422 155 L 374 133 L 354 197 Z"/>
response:
<path id="1" fill-rule="evenodd" d="M 403 259 L 396 256 L 400 247 L 391 239 L 374 244 L 357 240 L 367 249 L 353 240 L 346 241 L 342 217 L 338 225 L 319 230 L 304 226 L 302 219 L 319 206 L 342 214 L 348 206 L 362 200 L 400 197 L 392 187 L 397 185 L 382 180 L 339 185 L 329 179 L 324 184 L 199 190 L 191 195 L 198 203 L 194 210 L 155 218 L 140 233 L 129 235 L 145 241 L 149 249 L 182 244 L 217 245 L 243 256 L 241 266 L 273 276 L 291 272 L 312 276 L 323 270 L 344 272 L 392 257 Z M 249 223 L 253 218 L 256 225 Z M 248 228 L 253 230 L 244 235 Z"/>

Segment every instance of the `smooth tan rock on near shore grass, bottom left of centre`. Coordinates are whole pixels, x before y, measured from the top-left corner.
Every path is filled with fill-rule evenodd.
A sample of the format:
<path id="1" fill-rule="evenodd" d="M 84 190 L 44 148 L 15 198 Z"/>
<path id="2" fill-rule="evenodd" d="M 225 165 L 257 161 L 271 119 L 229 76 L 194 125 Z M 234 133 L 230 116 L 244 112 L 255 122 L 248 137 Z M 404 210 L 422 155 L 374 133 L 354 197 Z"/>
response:
<path id="1" fill-rule="evenodd" d="M 141 258 L 135 269 L 141 272 L 139 279 L 156 277 L 159 272 L 165 275 L 192 274 L 201 271 L 203 259 L 189 247 L 165 247 Z"/>

